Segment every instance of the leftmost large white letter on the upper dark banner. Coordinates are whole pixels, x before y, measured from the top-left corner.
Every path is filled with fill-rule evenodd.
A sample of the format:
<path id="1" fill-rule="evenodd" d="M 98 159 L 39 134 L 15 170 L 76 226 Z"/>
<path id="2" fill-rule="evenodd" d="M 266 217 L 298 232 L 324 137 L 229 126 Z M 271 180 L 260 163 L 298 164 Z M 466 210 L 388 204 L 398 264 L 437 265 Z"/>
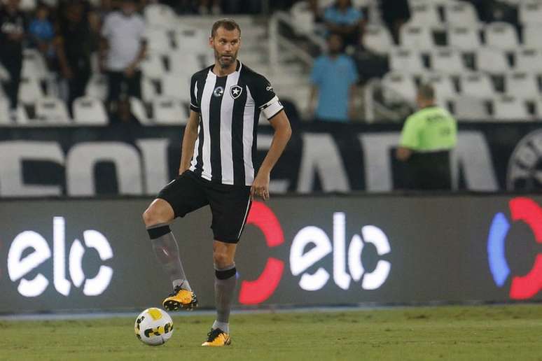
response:
<path id="1" fill-rule="evenodd" d="M 22 175 L 22 162 L 38 160 L 64 166 L 64 153 L 57 142 L 0 142 L 0 196 L 39 197 L 62 194 L 60 185 L 27 185 Z"/>

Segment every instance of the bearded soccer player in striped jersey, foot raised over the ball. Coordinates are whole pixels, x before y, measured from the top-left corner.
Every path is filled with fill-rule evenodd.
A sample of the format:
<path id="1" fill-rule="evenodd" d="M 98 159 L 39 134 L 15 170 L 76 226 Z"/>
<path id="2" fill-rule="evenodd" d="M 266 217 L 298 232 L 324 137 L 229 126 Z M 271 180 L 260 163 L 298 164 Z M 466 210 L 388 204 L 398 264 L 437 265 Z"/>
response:
<path id="1" fill-rule="evenodd" d="M 174 289 L 162 302 L 164 308 L 193 309 L 196 295 L 183 270 L 169 222 L 210 206 L 217 316 L 202 346 L 225 346 L 230 344 L 237 242 L 252 199 L 269 199 L 270 172 L 290 139 L 291 127 L 267 79 L 237 59 L 239 25 L 230 19 L 215 22 L 209 45 L 214 49 L 214 64 L 195 73 L 190 81 L 190 118 L 183 136 L 179 176 L 160 191 L 143 218 Z M 256 173 L 253 158 L 260 113 L 270 121 L 275 134 Z"/>

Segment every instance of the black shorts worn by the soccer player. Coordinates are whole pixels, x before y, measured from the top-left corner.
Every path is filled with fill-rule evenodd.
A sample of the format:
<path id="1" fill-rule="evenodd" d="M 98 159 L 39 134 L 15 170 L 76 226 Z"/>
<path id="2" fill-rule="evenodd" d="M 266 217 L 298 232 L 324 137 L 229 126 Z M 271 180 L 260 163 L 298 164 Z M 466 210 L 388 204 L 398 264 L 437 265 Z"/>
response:
<path id="1" fill-rule="evenodd" d="M 175 218 L 209 204 L 214 239 L 225 243 L 239 241 L 252 204 L 250 187 L 211 183 L 192 171 L 172 180 L 160 190 L 158 198 L 172 206 Z"/>

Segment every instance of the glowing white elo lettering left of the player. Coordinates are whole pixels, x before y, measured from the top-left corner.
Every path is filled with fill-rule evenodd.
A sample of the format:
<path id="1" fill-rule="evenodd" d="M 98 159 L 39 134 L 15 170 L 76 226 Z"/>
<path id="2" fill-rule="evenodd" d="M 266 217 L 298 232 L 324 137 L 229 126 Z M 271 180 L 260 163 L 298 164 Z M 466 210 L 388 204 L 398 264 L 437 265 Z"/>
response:
<path id="1" fill-rule="evenodd" d="M 83 232 L 85 246 L 94 248 L 100 260 L 106 261 L 113 258 L 113 250 L 106 237 L 98 231 L 88 229 Z M 61 295 L 68 296 L 71 289 L 71 283 L 66 279 L 66 253 L 65 253 L 65 220 L 63 217 L 53 218 L 53 284 L 55 289 Z M 34 252 L 22 257 L 22 254 L 28 248 Z M 98 274 L 93 278 L 87 278 L 83 271 L 83 255 L 85 248 L 81 242 L 76 239 L 69 250 L 69 274 L 71 281 L 76 288 L 83 285 L 83 294 L 87 296 L 101 295 L 111 283 L 113 278 L 113 269 L 103 264 L 99 267 Z M 11 281 L 21 280 L 18 291 L 25 297 L 37 297 L 47 288 L 49 281 L 38 274 L 32 280 L 23 278 L 32 270 L 39 267 L 51 257 L 51 250 L 47 241 L 41 234 L 33 231 L 25 231 L 15 237 L 8 251 L 8 274 Z"/>

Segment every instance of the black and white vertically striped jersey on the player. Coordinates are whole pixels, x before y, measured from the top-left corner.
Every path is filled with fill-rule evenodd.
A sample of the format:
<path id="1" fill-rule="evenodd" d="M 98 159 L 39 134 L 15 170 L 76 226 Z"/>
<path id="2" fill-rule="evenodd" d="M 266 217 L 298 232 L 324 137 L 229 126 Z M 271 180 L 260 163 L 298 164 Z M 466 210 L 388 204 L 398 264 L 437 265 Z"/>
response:
<path id="1" fill-rule="evenodd" d="M 269 81 L 237 61 L 228 76 L 209 66 L 190 81 L 190 109 L 200 114 L 190 171 L 211 182 L 252 185 L 256 128 L 283 107 Z"/>

